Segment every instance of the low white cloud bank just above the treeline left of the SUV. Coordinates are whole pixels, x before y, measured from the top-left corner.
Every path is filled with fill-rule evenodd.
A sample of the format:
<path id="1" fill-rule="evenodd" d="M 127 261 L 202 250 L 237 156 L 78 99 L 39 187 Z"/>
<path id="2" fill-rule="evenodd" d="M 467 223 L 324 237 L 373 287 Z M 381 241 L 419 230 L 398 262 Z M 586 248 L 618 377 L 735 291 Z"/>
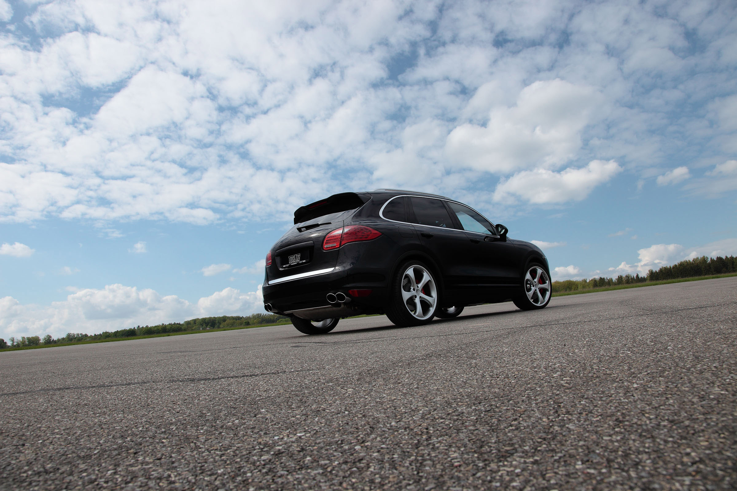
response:
<path id="1" fill-rule="evenodd" d="M 73 293 L 66 300 L 48 306 L 23 305 L 13 297 L 0 298 L 0 333 L 4 339 L 45 334 L 58 337 L 68 332 L 92 334 L 195 317 L 264 311 L 260 286 L 256 292 L 248 293 L 226 288 L 200 298 L 197 303 L 119 284 L 104 289 L 68 289 Z"/>

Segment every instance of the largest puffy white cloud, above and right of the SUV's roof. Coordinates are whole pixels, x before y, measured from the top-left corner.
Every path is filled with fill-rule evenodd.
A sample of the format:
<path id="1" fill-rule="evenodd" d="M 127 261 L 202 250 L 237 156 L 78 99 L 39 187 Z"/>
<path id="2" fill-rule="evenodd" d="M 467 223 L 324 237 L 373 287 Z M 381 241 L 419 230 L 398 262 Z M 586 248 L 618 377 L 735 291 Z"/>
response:
<path id="1" fill-rule="evenodd" d="M 493 108 L 486 127 L 456 127 L 448 135 L 447 153 L 462 166 L 501 174 L 556 168 L 581 147 L 581 130 L 601 99 L 585 85 L 559 79 L 534 82 L 520 92 L 514 107 Z"/>

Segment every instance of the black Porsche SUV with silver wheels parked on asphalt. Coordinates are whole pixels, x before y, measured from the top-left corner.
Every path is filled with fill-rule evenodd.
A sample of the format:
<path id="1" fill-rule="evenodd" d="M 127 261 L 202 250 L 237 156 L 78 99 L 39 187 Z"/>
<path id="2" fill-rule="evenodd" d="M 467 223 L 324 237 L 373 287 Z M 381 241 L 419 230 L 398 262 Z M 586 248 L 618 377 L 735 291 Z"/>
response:
<path id="1" fill-rule="evenodd" d="M 306 334 L 342 317 L 386 314 L 399 326 L 456 317 L 464 306 L 551 299 L 542 250 L 435 194 L 377 189 L 334 194 L 294 212 L 266 255 L 267 311 Z"/>

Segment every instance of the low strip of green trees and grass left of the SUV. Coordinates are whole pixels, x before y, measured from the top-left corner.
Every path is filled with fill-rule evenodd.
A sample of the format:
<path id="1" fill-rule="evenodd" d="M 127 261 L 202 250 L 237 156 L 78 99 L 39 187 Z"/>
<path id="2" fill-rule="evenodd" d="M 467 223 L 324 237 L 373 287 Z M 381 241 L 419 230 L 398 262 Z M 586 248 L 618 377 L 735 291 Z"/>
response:
<path id="1" fill-rule="evenodd" d="M 66 336 L 54 339 L 50 334 L 43 338 L 39 336 L 21 336 L 16 339 L 10 337 L 8 342 L 0 338 L 0 349 L 5 347 L 25 347 L 38 345 L 57 345 L 60 343 L 79 341 L 98 341 L 100 339 L 123 339 L 133 336 L 147 336 L 150 334 L 182 333 L 193 331 L 210 331 L 212 329 L 241 328 L 250 325 L 274 324 L 289 317 L 278 314 L 251 314 L 249 316 L 201 317 L 184 322 L 170 324 L 137 325 L 135 328 L 119 329 L 118 331 L 103 331 L 98 334 L 66 333 Z"/>

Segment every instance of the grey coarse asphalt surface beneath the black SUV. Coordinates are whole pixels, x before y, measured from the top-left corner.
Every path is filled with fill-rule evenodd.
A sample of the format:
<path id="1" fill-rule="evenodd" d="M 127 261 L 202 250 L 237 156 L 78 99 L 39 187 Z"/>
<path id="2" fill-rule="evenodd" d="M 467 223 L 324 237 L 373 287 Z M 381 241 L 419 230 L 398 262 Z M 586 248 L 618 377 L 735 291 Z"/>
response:
<path id="1" fill-rule="evenodd" d="M 735 292 L 0 353 L 0 488 L 735 489 Z"/>

